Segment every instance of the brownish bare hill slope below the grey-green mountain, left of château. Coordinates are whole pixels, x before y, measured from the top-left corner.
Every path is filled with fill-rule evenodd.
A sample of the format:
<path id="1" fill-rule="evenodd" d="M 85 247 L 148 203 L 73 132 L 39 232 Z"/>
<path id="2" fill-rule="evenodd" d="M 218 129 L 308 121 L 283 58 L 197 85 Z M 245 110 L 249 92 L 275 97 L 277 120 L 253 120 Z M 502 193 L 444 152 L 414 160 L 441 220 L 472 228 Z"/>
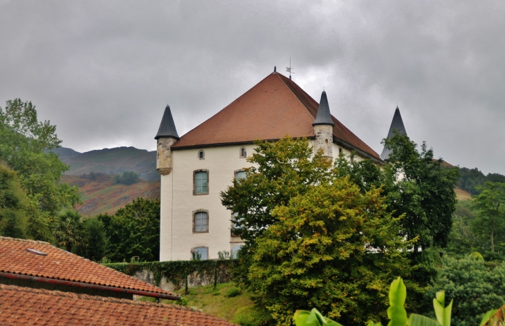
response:
<path id="1" fill-rule="evenodd" d="M 99 213 L 115 213 L 132 200 L 143 198 L 159 198 L 160 182 L 140 180 L 129 186 L 116 184 L 113 175 L 98 174 L 94 180 L 77 175 L 63 175 L 62 182 L 79 186 L 82 205 L 76 207 L 83 216 Z"/>

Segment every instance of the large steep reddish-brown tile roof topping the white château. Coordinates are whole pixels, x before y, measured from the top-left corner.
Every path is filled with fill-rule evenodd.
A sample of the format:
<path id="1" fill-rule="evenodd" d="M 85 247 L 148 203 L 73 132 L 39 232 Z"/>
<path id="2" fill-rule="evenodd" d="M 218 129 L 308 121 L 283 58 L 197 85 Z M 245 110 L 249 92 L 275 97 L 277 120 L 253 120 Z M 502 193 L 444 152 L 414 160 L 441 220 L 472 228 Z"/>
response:
<path id="1" fill-rule="evenodd" d="M 294 81 L 271 73 L 216 115 L 186 133 L 172 148 L 278 140 L 286 135 L 314 137 L 318 102 Z M 336 117 L 333 136 L 380 160 L 380 156 Z M 352 148 L 351 148 L 352 149 Z"/>

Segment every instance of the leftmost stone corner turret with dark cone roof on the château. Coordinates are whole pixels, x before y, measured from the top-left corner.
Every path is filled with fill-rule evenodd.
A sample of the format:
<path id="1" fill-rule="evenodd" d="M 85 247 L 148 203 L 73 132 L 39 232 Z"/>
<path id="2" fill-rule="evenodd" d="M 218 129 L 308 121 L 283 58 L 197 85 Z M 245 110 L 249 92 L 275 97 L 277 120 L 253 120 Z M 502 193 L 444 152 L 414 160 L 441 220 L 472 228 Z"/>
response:
<path id="1" fill-rule="evenodd" d="M 160 175 L 167 175 L 172 172 L 172 145 L 179 139 L 175 128 L 174 118 L 170 111 L 170 106 L 165 108 L 163 118 L 161 119 L 160 128 L 155 140 L 158 141 L 156 154 L 156 171 Z"/>

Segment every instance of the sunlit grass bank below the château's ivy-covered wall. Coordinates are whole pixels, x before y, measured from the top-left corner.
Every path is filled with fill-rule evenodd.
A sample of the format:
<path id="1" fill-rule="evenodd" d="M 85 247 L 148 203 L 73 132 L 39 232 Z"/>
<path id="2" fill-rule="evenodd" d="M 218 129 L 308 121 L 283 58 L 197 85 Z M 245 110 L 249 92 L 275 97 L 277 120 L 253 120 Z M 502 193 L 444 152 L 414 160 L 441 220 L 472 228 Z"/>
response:
<path id="1" fill-rule="evenodd" d="M 182 296 L 187 300 L 188 307 L 201 309 L 203 312 L 230 320 L 232 323 L 239 325 L 257 325 L 255 322 L 255 307 L 250 300 L 248 292 L 239 291 L 235 282 L 218 284 L 214 290 L 213 285 L 204 287 L 191 287 L 190 293 L 185 295 L 184 289 L 176 291 L 178 296 Z M 154 298 L 143 297 L 143 301 L 153 301 Z M 161 300 L 162 303 L 174 304 L 172 300 Z"/>

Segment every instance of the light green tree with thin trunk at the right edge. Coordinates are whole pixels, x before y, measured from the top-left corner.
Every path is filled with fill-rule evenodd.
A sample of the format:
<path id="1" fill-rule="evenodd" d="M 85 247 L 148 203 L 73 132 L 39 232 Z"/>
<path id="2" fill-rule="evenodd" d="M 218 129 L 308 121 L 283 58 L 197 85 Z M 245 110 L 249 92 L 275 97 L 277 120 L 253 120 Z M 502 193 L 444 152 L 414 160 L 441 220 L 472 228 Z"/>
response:
<path id="1" fill-rule="evenodd" d="M 495 252 L 495 232 L 505 227 L 505 183 L 488 181 L 484 186 L 475 188 L 480 194 L 474 196 L 473 207 L 479 209 L 479 214 L 473 221 L 473 227 L 488 234 L 491 252 Z"/>

